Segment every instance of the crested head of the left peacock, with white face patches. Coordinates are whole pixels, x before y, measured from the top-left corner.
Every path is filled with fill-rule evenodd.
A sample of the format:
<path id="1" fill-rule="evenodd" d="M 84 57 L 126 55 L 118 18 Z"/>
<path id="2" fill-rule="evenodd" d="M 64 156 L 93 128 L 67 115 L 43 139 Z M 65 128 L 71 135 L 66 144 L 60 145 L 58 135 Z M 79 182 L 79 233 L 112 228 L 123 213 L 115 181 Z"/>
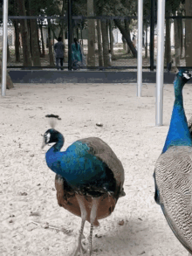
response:
<path id="1" fill-rule="evenodd" d="M 41 148 L 43 149 L 46 144 L 50 144 L 50 143 L 61 142 L 63 144 L 64 143 L 63 135 L 61 135 L 57 130 L 54 129 L 56 125 L 56 121 L 60 120 L 60 118 L 58 117 L 58 115 L 54 115 L 54 114 L 47 114 L 45 117 L 50 118 L 51 128 L 45 132 L 44 138 L 43 138 L 43 144 Z"/>

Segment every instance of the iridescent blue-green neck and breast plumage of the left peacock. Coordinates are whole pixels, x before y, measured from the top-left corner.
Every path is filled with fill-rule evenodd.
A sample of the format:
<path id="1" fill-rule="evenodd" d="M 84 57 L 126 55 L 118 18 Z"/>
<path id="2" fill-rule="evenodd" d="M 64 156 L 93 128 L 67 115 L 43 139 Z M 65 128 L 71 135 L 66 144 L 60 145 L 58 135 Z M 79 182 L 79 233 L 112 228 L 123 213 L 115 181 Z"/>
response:
<path id="1" fill-rule="evenodd" d="M 106 163 L 90 154 L 85 143 L 74 142 L 65 152 L 56 152 L 53 146 L 46 153 L 46 163 L 56 174 L 65 177 L 73 190 L 98 197 L 106 190 L 115 190 L 113 172 Z"/>

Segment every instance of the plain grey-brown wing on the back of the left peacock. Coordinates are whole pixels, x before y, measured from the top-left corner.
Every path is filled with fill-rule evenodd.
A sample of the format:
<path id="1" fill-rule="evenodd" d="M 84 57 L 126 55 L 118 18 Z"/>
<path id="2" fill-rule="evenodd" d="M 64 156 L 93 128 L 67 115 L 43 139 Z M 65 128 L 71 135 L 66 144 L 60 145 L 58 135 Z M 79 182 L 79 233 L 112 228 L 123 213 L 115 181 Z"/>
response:
<path id="1" fill-rule="evenodd" d="M 120 186 L 120 193 L 125 196 L 123 191 L 123 183 L 125 180 L 124 169 L 118 157 L 114 154 L 113 150 L 97 137 L 90 137 L 80 140 L 82 143 L 90 148 L 90 154 L 98 157 L 102 162 L 106 163 L 108 168 L 113 171 L 113 176 L 118 186 Z"/>

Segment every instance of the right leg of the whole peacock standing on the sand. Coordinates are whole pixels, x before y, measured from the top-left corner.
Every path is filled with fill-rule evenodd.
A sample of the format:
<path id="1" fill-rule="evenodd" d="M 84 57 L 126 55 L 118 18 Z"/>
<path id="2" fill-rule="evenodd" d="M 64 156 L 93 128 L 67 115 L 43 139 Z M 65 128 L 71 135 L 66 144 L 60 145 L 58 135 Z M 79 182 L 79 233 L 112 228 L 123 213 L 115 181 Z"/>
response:
<path id="1" fill-rule="evenodd" d="M 99 200 L 100 200 L 100 197 L 94 197 L 92 199 L 92 210 L 91 210 L 91 214 L 90 214 L 91 228 L 90 228 L 90 235 L 89 235 L 89 256 L 92 255 L 92 251 L 93 251 L 93 248 L 92 248 L 93 223 L 94 223 L 95 219 L 97 218 Z"/>

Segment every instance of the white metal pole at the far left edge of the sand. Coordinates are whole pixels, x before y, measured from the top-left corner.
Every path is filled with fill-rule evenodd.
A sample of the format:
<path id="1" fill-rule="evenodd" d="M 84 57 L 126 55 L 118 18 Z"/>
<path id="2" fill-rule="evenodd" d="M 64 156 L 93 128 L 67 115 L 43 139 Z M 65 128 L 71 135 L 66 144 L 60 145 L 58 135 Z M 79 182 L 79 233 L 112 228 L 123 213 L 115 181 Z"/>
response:
<path id="1" fill-rule="evenodd" d="M 2 96 L 6 95 L 8 0 L 3 0 Z"/>

